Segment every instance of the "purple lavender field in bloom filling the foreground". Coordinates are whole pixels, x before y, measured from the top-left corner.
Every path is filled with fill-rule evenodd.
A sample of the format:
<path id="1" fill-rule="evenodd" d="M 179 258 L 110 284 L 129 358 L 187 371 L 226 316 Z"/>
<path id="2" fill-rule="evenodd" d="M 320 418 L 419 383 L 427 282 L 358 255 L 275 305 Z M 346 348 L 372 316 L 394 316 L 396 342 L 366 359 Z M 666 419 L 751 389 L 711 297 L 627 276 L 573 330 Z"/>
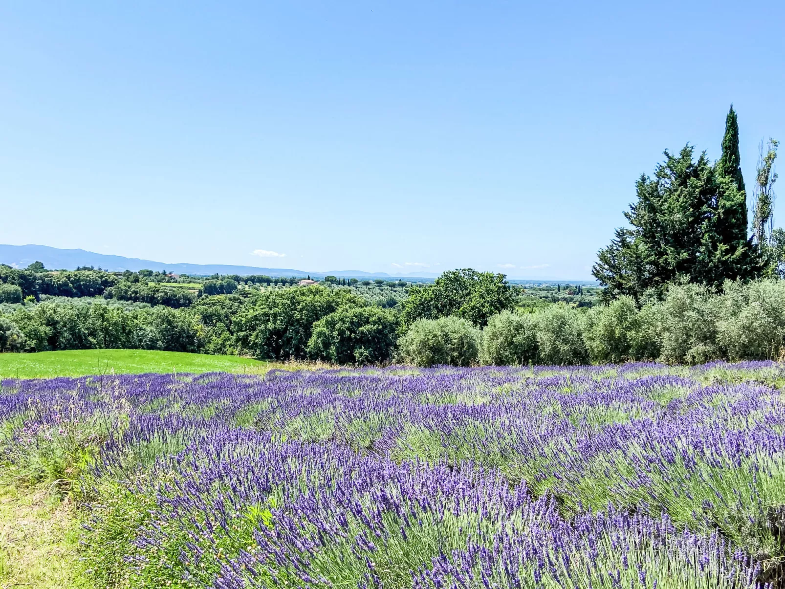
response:
<path id="1" fill-rule="evenodd" d="M 96 587 L 782 587 L 785 368 L 5 380 Z"/>

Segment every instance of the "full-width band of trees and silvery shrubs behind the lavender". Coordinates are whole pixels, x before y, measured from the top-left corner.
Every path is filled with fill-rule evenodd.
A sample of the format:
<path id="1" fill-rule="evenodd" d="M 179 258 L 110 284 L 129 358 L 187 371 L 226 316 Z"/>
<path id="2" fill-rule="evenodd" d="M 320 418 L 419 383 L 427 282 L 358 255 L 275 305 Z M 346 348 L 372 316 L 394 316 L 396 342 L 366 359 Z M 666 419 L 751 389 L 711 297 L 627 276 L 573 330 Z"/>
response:
<path id="1" fill-rule="evenodd" d="M 462 276 L 468 284 L 455 284 Z M 663 300 L 623 295 L 590 309 L 515 308 L 503 280 L 456 271 L 432 288 L 455 294 L 440 316 L 422 299 L 384 309 L 349 289 L 295 287 L 255 297 L 200 298 L 171 309 L 49 300 L 0 315 L 0 349 L 141 348 L 335 364 L 583 364 L 626 360 L 699 363 L 777 359 L 785 352 L 785 281 L 727 281 L 720 290 L 670 284 Z M 493 279 L 493 280 L 491 280 Z M 488 285 L 496 285 L 488 288 Z M 483 293 L 474 320 L 459 293 Z M 447 294 L 445 294 L 447 296 Z M 477 295 L 479 297 L 479 295 Z M 418 315 L 419 309 L 419 315 Z M 404 316 L 407 319 L 404 319 Z M 433 318 L 432 318 L 433 317 Z M 485 324 L 483 326 L 483 324 Z"/>

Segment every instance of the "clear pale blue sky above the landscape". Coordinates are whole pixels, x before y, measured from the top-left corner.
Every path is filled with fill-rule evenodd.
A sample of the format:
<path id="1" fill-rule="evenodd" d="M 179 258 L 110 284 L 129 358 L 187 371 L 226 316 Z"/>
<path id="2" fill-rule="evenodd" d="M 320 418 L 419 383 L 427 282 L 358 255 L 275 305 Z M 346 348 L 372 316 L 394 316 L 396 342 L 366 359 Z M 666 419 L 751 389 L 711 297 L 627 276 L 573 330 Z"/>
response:
<path id="1" fill-rule="evenodd" d="M 751 185 L 783 33 L 783 2 L 4 2 L 0 243 L 590 278 L 731 102 Z"/>

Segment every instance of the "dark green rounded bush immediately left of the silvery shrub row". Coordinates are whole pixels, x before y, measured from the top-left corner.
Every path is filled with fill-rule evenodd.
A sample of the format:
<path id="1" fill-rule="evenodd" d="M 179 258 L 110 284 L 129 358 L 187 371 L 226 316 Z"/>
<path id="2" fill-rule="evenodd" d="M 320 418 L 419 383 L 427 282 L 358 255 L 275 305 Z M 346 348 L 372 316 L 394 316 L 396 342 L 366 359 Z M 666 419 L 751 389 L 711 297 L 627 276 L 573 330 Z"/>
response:
<path id="1" fill-rule="evenodd" d="M 397 322 L 377 306 L 341 307 L 313 324 L 308 356 L 333 364 L 378 364 L 389 360 Z"/>

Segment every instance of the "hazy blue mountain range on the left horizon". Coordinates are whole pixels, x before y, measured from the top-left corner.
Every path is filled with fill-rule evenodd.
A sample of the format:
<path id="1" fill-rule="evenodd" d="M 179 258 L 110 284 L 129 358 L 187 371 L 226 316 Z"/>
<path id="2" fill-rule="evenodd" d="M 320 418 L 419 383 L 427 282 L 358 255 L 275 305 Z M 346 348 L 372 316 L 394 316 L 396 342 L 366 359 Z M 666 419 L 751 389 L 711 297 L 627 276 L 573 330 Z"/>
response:
<path id="1" fill-rule="evenodd" d="M 265 274 L 272 277 L 289 276 L 342 276 L 346 278 L 360 278 L 369 276 L 371 278 L 436 278 L 435 273 L 405 273 L 388 274 L 385 272 L 363 272 L 363 270 L 330 270 L 330 272 L 314 272 L 296 270 L 292 268 L 257 268 L 256 266 L 235 266 L 227 264 L 170 264 L 166 262 L 153 262 L 152 260 L 141 260 L 139 258 L 126 258 L 108 254 L 96 254 L 93 251 L 85 250 L 61 250 L 58 247 L 39 246 L 39 245 L 0 245 L 0 264 L 7 264 L 14 268 L 27 268 L 33 262 L 42 262 L 48 269 L 73 270 L 77 266 L 93 266 L 111 272 L 122 272 L 131 270 L 166 270 L 177 274 L 192 274 L 194 276 L 210 276 L 212 274 L 239 274 L 247 276 L 249 274 Z"/>

